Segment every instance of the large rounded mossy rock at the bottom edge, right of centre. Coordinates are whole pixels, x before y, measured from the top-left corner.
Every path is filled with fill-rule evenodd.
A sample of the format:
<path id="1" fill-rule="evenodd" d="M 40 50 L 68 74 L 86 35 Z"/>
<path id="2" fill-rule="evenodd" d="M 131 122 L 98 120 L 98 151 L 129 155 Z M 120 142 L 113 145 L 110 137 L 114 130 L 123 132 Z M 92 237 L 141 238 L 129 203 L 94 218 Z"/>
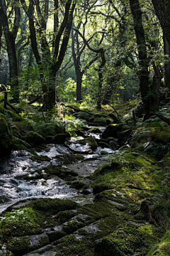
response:
<path id="1" fill-rule="evenodd" d="M 102 256 L 146 255 L 151 245 L 157 241 L 152 227 L 127 223 L 115 230 L 111 235 L 99 240 L 95 251 Z"/>

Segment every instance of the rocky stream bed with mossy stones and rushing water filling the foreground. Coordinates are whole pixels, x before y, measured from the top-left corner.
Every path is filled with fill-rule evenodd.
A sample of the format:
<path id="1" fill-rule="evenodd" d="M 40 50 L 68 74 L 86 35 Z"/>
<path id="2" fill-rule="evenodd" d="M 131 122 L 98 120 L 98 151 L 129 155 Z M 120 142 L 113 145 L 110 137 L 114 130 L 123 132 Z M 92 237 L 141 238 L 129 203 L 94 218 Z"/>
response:
<path id="1" fill-rule="evenodd" d="M 93 139 L 41 144 L 1 161 L 0 255 L 142 256 L 160 242 L 165 230 L 150 208 L 169 157 L 157 164 L 86 136 Z"/>

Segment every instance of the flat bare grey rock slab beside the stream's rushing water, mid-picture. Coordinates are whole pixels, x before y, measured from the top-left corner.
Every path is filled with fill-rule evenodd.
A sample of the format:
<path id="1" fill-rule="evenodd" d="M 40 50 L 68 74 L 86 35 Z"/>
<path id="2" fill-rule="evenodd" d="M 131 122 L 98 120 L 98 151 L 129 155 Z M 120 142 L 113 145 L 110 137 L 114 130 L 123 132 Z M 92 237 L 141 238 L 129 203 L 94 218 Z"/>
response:
<path id="1" fill-rule="evenodd" d="M 107 161 L 105 160 L 84 161 L 77 164 L 68 164 L 67 168 L 76 172 L 79 176 L 89 176 L 90 174 L 93 174 L 99 166 L 106 163 Z"/>

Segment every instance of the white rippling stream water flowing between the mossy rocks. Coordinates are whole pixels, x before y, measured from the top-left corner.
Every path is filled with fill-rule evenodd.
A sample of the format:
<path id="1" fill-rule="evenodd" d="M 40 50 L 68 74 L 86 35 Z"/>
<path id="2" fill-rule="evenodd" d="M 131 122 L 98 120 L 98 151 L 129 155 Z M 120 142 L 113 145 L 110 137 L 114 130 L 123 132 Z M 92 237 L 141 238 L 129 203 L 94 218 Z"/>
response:
<path id="1" fill-rule="evenodd" d="M 99 139 L 100 135 L 91 134 L 91 137 Z M 80 139 L 80 138 L 79 138 Z M 106 151 L 108 154 L 113 153 L 111 149 L 101 149 L 98 147 L 96 151 L 91 151 L 89 145 L 82 146 L 79 144 L 79 139 L 71 139 L 69 143 L 64 144 L 48 144 L 43 149 L 35 152 L 41 156 L 48 156 L 49 161 L 33 161 L 32 154 L 28 151 L 18 150 L 12 151 L 9 156 L 1 161 L 0 166 L 0 213 L 13 203 L 28 198 L 72 198 L 77 203 L 85 204 L 91 203 L 94 199 L 91 193 L 88 196 L 79 195 L 77 189 L 69 188 L 66 181 L 61 178 L 50 178 L 46 182 L 43 178 L 34 180 L 35 174 L 30 174 L 49 164 L 62 164 L 60 156 L 68 156 L 73 152 L 83 154 L 86 161 L 76 164 L 69 164 L 66 167 L 72 171 L 77 172 L 78 178 L 88 176 L 98 169 L 98 166 L 106 163 L 106 159 L 99 157 L 101 151 Z M 91 157 L 98 157 L 98 159 L 91 161 Z M 88 161 L 89 159 L 89 161 Z M 29 174 L 32 176 L 32 181 L 23 181 L 17 178 L 18 175 Z M 45 174 L 45 172 L 44 172 Z M 86 182 L 86 181 L 84 181 Z M 87 181 L 88 182 L 88 181 Z"/>

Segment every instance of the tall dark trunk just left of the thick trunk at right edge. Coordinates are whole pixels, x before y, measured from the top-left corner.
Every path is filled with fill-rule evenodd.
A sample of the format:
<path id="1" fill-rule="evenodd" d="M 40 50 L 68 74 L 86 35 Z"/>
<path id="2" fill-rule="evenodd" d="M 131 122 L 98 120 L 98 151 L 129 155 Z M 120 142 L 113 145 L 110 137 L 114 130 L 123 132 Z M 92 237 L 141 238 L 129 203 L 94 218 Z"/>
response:
<path id="1" fill-rule="evenodd" d="M 149 72 L 148 72 L 148 60 L 147 60 L 147 48 L 145 41 L 145 31 L 142 25 L 142 12 L 140 10 L 140 4 L 138 0 L 130 0 L 130 8 L 132 11 L 135 35 L 137 39 L 137 48 L 139 53 L 140 64 L 140 92 L 142 96 L 142 102 L 145 110 L 145 117 L 150 112 L 150 99 L 149 93 Z"/>

